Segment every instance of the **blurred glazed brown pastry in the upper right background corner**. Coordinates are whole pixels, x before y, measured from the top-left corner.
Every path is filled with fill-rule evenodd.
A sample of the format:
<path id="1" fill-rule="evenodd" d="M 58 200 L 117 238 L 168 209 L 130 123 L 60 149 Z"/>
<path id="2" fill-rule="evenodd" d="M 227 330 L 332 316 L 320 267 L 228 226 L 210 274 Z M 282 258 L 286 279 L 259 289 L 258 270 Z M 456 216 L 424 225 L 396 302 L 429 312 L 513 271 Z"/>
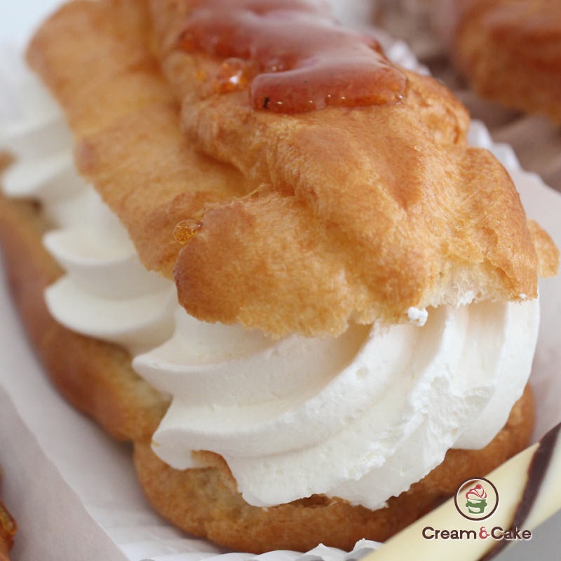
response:
<path id="1" fill-rule="evenodd" d="M 452 51 L 478 92 L 561 124 L 561 1 L 445 0 Z"/>

